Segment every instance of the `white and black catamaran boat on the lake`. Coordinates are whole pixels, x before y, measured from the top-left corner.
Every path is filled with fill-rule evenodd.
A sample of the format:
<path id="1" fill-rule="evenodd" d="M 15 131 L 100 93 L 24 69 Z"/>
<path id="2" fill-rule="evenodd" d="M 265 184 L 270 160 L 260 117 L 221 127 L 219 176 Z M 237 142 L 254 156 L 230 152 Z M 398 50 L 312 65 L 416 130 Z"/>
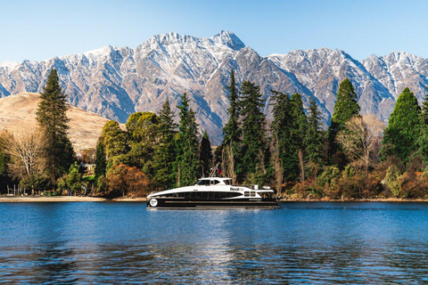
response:
<path id="1" fill-rule="evenodd" d="M 231 178 L 208 177 L 193 186 L 153 192 L 147 208 L 279 208 L 272 189 L 234 186 Z"/>

